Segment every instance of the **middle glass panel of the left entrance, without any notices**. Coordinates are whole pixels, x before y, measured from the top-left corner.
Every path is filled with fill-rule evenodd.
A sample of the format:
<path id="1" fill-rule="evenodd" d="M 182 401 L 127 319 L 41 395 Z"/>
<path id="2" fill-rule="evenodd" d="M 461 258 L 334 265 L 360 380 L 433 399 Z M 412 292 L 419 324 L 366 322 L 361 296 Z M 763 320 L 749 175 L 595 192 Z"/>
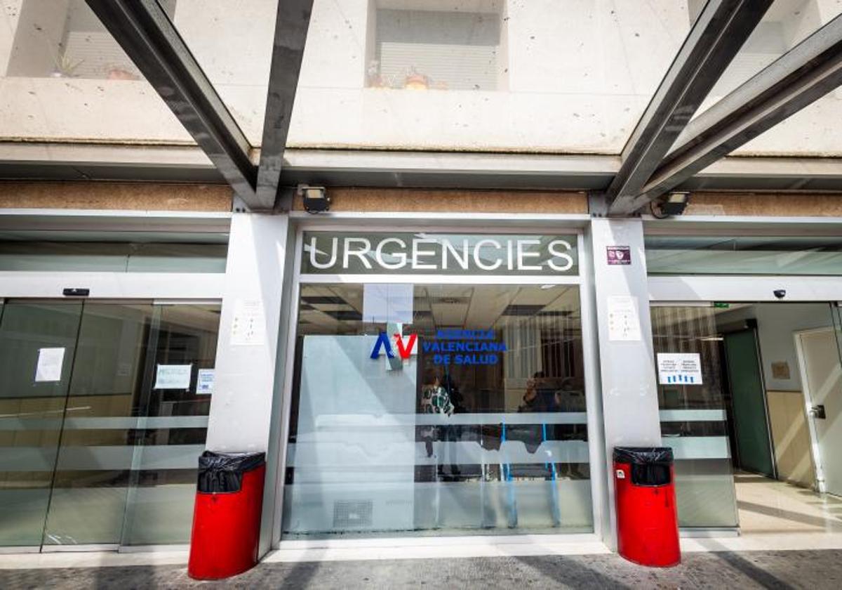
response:
<path id="1" fill-rule="evenodd" d="M 86 302 L 44 544 L 117 544 L 152 303 Z"/>

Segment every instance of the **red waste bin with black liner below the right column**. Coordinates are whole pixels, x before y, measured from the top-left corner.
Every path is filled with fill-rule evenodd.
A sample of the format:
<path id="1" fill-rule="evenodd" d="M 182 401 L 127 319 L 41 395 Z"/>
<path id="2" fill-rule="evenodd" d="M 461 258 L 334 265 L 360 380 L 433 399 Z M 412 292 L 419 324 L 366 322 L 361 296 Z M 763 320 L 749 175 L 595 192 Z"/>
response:
<path id="1" fill-rule="evenodd" d="M 642 566 L 681 561 L 673 449 L 614 448 L 617 551 Z"/>

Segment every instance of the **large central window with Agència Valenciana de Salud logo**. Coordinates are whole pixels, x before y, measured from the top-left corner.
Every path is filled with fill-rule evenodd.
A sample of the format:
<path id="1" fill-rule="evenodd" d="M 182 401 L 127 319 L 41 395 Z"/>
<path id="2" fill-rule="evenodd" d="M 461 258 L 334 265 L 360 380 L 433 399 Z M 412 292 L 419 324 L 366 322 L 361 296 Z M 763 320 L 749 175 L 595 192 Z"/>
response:
<path id="1" fill-rule="evenodd" d="M 590 531 L 578 286 L 302 285 L 283 531 Z"/>

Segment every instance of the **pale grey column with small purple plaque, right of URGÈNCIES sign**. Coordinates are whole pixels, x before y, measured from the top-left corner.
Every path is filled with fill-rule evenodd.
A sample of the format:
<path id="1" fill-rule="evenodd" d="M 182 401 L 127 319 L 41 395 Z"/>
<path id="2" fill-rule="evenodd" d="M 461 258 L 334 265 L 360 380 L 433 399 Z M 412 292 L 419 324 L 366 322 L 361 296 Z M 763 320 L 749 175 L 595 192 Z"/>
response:
<path id="1" fill-rule="evenodd" d="M 605 523 L 610 524 L 610 528 L 603 530 L 603 537 L 605 543 L 616 550 L 611 453 L 618 446 L 661 444 L 642 221 L 594 219 L 589 239 L 600 336 L 610 515 Z M 609 249 L 620 253 L 611 258 L 615 264 L 609 264 Z"/>

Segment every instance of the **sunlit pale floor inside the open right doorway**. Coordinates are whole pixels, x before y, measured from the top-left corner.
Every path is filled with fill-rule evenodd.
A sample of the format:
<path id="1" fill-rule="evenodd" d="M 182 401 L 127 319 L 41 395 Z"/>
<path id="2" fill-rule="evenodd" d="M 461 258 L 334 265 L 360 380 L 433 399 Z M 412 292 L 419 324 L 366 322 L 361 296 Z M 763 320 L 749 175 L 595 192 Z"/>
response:
<path id="1" fill-rule="evenodd" d="M 740 532 L 842 533 L 842 498 L 761 475 L 734 475 Z"/>

